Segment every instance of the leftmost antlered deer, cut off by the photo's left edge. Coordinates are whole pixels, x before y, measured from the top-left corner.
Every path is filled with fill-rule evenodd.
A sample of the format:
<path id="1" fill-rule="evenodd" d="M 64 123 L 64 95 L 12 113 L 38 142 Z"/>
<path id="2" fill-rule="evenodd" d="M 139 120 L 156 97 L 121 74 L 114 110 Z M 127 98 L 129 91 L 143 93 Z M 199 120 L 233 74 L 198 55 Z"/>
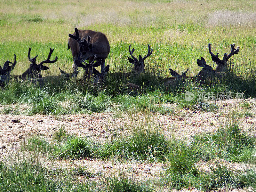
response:
<path id="1" fill-rule="evenodd" d="M 9 63 L 11 66 L 9 66 Z M 16 55 L 14 54 L 14 62 L 12 63 L 11 61 L 7 60 L 4 63 L 3 68 L 0 65 L 0 87 L 3 87 L 5 84 L 4 82 L 6 81 L 6 84 L 9 82 L 10 79 L 10 72 L 13 70 L 13 68 L 16 65 Z"/>

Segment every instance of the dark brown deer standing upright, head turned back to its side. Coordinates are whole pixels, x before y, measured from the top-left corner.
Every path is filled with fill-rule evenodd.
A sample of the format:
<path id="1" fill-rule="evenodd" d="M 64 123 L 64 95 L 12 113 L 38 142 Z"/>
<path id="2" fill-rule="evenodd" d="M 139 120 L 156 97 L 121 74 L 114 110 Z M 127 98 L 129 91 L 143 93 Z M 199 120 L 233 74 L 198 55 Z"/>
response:
<path id="1" fill-rule="evenodd" d="M 79 30 L 75 28 L 75 33 L 68 34 L 68 49 L 71 49 L 73 60 L 82 62 L 82 60 L 89 60 L 89 63 L 94 60 L 94 55 L 97 54 L 96 60 L 102 60 L 101 71 L 105 67 L 105 60 L 110 52 L 108 38 L 105 34 L 92 30 Z M 82 41 L 83 39 L 83 41 Z M 82 53 L 82 60 L 80 58 Z"/>

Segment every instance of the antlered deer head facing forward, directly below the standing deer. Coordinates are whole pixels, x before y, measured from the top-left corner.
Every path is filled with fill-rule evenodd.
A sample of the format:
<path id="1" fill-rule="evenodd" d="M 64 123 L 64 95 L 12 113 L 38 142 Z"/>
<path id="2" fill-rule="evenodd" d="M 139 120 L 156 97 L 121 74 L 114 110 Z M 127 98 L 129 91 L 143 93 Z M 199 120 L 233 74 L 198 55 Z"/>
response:
<path id="1" fill-rule="evenodd" d="M 86 80 L 90 80 L 90 77 L 92 75 L 92 69 L 95 68 L 95 67 L 99 67 L 101 65 L 101 62 L 102 62 L 102 59 L 95 61 L 95 59 L 97 58 L 97 54 L 95 54 L 94 56 L 94 59 L 92 60 L 92 62 L 90 62 L 90 64 L 86 63 L 83 58 L 82 58 L 82 53 L 80 53 L 80 59 L 81 61 L 85 64 L 83 64 L 80 60 L 77 60 L 75 59 L 75 64 L 77 67 L 81 67 L 81 68 L 84 68 L 84 76 L 83 76 L 83 79 L 86 79 Z"/>

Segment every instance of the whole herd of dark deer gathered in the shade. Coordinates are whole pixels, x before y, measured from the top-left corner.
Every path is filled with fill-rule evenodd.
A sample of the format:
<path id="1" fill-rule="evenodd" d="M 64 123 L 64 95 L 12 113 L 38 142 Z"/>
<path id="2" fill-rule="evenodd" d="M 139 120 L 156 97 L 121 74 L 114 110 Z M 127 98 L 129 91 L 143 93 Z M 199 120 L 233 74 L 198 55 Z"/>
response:
<path id="1" fill-rule="evenodd" d="M 28 60 L 31 62 L 29 68 L 22 73 L 21 75 L 10 75 L 11 71 L 16 65 L 16 55 L 14 54 L 14 62 L 7 60 L 4 63 L 3 68 L 0 66 L 0 86 L 5 86 L 8 84 L 10 78 L 14 79 L 23 79 L 23 80 L 30 80 L 38 86 L 44 86 L 49 81 L 56 81 L 59 78 L 75 78 L 79 73 L 78 67 L 84 68 L 84 74 L 82 77 L 83 82 L 90 82 L 94 85 L 101 86 L 102 82 L 104 81 L 104 77 L 109 71 L 109 66 L 105 66 L 106 58 L 110 52 L 110 46 L 108 39 L 105 34 L 101 32 L 95 32 L 92 30 L 78 30 L 75 28 L 75 33 L 68 34 L 68 49 L 71 49 L 74 64 L 73 64 L 73 73 L 65 73 L 60 68 L 61 76 L 45 76 L 43 77 L 41 74 L 42 70 L 47 70 L 49 67 L 44 66 L 44 63 L 54 63 L 57 61 L 58 57 L 56 56 L 54 60 L 50 60 L 52 56 L 52 52 L 54 49 L 50 48 L 49 55 L 46 60 L 41 61 L 39 64 L 36 64 L 37 55 L 33 58 L 30 58 L 31 48 L 28 49 Z M 180 81 L 183 80 L 190 80 L 194 83 L 202 84 L 206 80 L 211 80 L 212 78 L 218 78 L 222 76 L 228 71 L 227 68 L 227 61 L 230 59 L 234 54 L 239 52 L 239 47 L 236 47 L 235 44 L 230 44 L 231 52 L 228 55 L 227 53 L 224 54 L 222 60 L 219 59 L 217 53 L 214 55 L 211 51 L 211 44 L 208 44 L 209 53 L 212 56 L 212 61 L 217 64 L 216 69 L 214 70 L 210 65 L 206 64 L 206 61 L 203 57 L 201 59 L 197 59 L 197 65 L 202 67 L 201 71 L 192 77 L 186 76 L 188 69 L 185 72 L 182 72 L 179 75 L 177 72 L 173 71 L 170 68 L 170 73 L 172 77 L 164 78 L 164 85 L 165 86 L 173 86 L 178 84 Z M 134 65 L 133 69 L 128 72 L 124 73 L 125 77 L 129 76 L 138 76 L 140 73 L 145 72 L 145 64 L 144 60 L 148 58 L 152 53 L 153 49 L 150 49 L 148 45 L 148 54 L 142 58 L 139 55 L 138 58 L 133 56 L 133 52 L 135 51 L 134 48 L 131 50 L 131 45 L 129 45 L 129 52 L 132 58 L 128 57 L 128 60 L 131 64 Z M 85 60 L 89 60 L 89 64 L 85 62 Z M 95 62 L 96 61 L 96 62 Z M 96 67 L 100 66 L 101 72 L 99 72 Z M 140 88 L 138 85 L 128 83 L 126 84 L 128 88 L 138 89 Z"/>

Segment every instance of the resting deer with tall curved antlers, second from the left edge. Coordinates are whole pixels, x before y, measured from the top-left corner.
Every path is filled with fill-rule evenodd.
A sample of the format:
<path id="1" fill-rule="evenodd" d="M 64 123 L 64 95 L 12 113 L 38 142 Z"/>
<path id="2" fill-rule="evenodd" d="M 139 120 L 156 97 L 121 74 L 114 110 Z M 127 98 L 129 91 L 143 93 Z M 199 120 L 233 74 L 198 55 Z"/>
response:
<path id="1" fill-rule="evenodd" d="M 46 67 L 43 64 L 44 63 L 55 63 L 58 59 L 58 57 L 56 56 L 54 60 L 50 60 L 52 52 L 54 51 L 54 49 L 50 48 L 50 52 L 49 52 L 47 59 L 44 61 L 41 61 L 39 64 L 36 64 L 36 57 L 38 55 L 36 55 L 36 57 L 30 58 L 30 51 L 31 51 L 31 47 L 29 47 L 29 49 L 28 49 L 28 60 L 31 62 L 31 64 L 29 65 L 29 68 L 21 75 L 12 75 L 12 77 L 19 78 L 19 79 L 21 79 L 21 78 L 26 79 L 27 77 L 42 78 L 41 71 L 49 69 L 49 67 Z"/>

